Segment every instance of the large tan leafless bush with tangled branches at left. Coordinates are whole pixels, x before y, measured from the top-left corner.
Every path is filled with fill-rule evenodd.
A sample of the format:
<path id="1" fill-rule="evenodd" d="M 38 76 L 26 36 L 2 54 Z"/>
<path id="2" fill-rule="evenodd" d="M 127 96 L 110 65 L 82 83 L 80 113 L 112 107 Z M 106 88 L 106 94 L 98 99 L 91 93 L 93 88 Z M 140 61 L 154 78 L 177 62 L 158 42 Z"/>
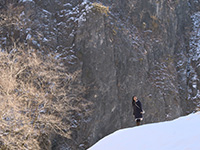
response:
<path id="1" fill-rule="evenodd" d="M 53 56 L 21 48 L 0 52 L 0 72 L 0 149 L 39 150 L 39 138 L 51 133 L 70 138 L 69 111 L 88 106 L 80 72 L 69 74 Z M 46 141 L 43 149 L 50 149 Z"/>

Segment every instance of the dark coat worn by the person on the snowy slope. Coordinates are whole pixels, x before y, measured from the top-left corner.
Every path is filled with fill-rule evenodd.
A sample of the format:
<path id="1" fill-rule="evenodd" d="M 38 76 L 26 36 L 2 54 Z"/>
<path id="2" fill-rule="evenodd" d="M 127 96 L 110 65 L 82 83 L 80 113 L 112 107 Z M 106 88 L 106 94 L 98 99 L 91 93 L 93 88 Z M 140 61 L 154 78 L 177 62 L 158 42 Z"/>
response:
<path id="1" fill-rule="evenodd" d="M 135 119 L 142 118 L 142 104 L 139 100 L 135 102 L 134 100 L 132 101 L 132 107 L 133 107 L 133 115 L 135 116 Z"/>

